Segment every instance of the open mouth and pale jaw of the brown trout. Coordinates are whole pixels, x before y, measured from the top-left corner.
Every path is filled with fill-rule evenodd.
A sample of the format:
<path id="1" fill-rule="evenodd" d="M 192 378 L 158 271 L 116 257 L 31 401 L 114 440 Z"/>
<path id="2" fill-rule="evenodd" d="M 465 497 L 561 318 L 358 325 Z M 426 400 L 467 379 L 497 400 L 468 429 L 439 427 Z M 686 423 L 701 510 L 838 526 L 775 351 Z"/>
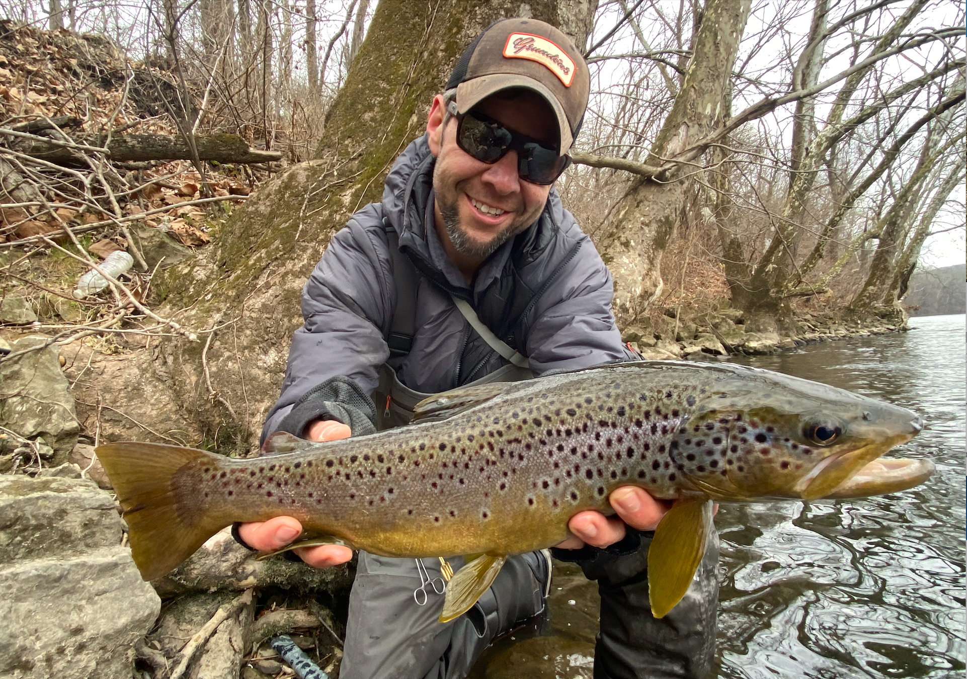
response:
<path id="1" fill-rule="evenodd" d="M 912 465 L 915 460 L 877 460 L 881 455 L 889 451 L 896 445 L 905 443 L 913 438 L 920 430 L 914 432 L 904 432 L 894 434 L 885 440 L 867 444 L 861 448 L 843 451 L 831 455 L 824 459 L 815 468 L 803 477 L 796 490 L 804 500 L 818 500 L 824 497 L 863 497 L 864 495 L 876 495 L 884 492 L 894 492 L 904 490 L 908 487 L 916 486 L 916 483 L 906 483 L 910 478 L 920 478 L 923 472 L 928 477 L 933 472 L 933 463 L 929 462 L 929 470 L 919 469 Z M 876 460 L 876 461 L 874 461 Z M 925 460 L 928 461 L 928 460 Z M 903 462 L 894 465 L 894 462 Z M 889 464 L 888 464 L 889 463 Z M 879 464 L 880 467 L 874 466 Z M 853 478 L 859 479 L 853 483 Z M 925 479 L 926 477 L 923 477 Z M 878 481 L 883 479 L 882 484 Z M 897 482 L 896 487 L 891 480 Z M 876 487 L 886 487 L 886 490 L 873 490 Z M 836 495 L 840 488 L 847 488 L 844 492 L 849 495 Z M 863 488 L 870 490 L 864 492 Z"/>

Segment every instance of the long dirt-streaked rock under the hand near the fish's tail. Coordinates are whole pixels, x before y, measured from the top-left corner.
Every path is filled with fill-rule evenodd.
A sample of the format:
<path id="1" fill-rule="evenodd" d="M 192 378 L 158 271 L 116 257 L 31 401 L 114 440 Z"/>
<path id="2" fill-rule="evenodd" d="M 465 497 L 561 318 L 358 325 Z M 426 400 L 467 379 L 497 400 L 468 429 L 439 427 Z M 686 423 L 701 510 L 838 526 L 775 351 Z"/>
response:
<path id="1" fill-rule="evenodd" d="M 229 528 L 221 530 L 181 566 L 152 584 L 162 597 L 186 592 L 244 590 L 275 585 L 299 592 L 348 591 L 352 576 L 346 566 L 312 568 L 281 556 L 256 561 L 254 552 L 239 545 Z"/>

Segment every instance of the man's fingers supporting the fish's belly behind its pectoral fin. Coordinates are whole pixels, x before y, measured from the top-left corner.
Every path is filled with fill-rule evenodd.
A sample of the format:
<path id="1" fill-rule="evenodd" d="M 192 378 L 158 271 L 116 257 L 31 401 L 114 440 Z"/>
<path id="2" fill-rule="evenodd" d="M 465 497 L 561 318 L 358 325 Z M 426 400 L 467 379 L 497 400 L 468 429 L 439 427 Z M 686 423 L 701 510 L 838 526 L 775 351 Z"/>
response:
<path id="1" fill-rule="evenodd" d="M 655 530 L 671 502 L 656 500 L 646 490 L 623 486 L 614 490 L 608 501 L 617 517 L 605 517 L 601 512 L 581 512 L 571 517 L 568 527 L 574 535 L 558 545 L 562 549 L 580 549 L 591 545 L 606 547 L 625 537 L 626 524 L 637 530 Z"/>

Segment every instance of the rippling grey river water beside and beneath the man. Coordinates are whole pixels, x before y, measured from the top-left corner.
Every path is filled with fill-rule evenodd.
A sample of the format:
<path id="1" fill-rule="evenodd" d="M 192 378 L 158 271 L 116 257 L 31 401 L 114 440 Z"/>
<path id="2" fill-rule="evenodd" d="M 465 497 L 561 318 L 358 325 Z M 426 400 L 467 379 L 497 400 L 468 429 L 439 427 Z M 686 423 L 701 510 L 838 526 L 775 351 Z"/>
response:
<path id="1" fill-rule="evenodd" d="M 964 676 L 964 316 L 742 363 L 892 401 L 923 432 L 890 457 L 932 458 L 923 486 L 837 502 L 722 505 L 718 676 Z M 597 586 L 556 563 L 542 629 L 498 642 L 477 679 L 591 677 Z"/>

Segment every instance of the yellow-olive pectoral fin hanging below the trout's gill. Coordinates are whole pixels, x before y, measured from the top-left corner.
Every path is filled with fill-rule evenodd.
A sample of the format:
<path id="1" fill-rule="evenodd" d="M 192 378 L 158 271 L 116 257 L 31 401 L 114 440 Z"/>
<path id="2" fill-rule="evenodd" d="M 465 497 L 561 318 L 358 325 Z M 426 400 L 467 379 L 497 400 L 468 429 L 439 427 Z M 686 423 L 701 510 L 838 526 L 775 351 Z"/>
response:
<path id="1" fill-rule="evenodd" d="M 705 496 L 679 500 L 661 518 L 648 548 L 648 597 L 656 618 L 682 601 L 712 530 L 712 500 Z"/>

